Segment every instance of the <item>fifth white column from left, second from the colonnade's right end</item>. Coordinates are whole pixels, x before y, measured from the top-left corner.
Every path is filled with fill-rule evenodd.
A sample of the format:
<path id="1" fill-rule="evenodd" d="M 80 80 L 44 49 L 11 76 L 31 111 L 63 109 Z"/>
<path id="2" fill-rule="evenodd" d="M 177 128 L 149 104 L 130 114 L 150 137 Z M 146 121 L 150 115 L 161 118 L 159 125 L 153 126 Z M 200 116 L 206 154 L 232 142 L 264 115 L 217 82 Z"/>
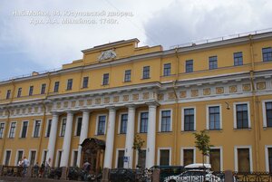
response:
<path id="1" fill-rule="evenodd" d="M 131 105 L 128 113 L 128 123 L 126 132 L 126 147 L 125 156 L 129 158 L 128 162 L 124 163 L 124 168 L 132 168 L 133 162 L 133 142 L 134 142 L 134 124 L 135 124 L 135 106 Z"/>

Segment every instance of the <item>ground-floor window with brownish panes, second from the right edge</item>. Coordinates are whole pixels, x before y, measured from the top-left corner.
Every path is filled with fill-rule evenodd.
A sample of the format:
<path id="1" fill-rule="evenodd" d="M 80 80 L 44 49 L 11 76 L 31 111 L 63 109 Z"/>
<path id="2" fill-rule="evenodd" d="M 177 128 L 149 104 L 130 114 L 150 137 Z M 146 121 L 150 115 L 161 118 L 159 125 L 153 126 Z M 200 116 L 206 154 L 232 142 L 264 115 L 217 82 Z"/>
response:
<path id="1" fill-rule="evenodd" d="M 250 171 L 249 148 L 238 148 L 238 172 Z"/>

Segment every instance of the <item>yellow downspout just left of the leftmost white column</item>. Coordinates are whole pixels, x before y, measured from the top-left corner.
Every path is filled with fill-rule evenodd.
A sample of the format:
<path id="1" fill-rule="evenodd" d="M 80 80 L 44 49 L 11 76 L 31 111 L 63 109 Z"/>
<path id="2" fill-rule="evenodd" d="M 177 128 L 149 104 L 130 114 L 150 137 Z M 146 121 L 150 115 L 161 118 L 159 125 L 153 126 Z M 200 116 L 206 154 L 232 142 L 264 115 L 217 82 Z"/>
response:
<path id="1" fill-rule="evenodd" d="M 51 88 L 51 78 L 50 78 L 50 72 L 48 72 L 47 73 L 47 78 L 48 78 L 48 87 L 47 87 L 47 91 L 46 91 L 46 95 L 45 95 L 45 97 L 44 97 L 44 101 L 46 101 L 47 100 L 47 98 L 48 98 L 48 96 L 49 96 L 49 91 L 50 91 L 50 88 Z M 43 116 L 43 126 L 42 126 L 42 133 L 41 133 L 41 136 L 40 136 L 40 142 L 39 142 L 39 148 L 38 148 L 38 154 L 37 154 L 37 156 L 38 156 L 38 158 L 40 157 L 40 155 L 41 155 L 41 150 L 42 150 L 42 142 L 43 142 L 43 139 L 44 139 L 44 132 L 46 132 L 45 131 L 45 126 L 46 126 L 46 124 L 45 124 L 45 120 L 46 120 L 46 105 L 45 105 L 45 103 L 44 103 L 44 101 L 42 102 L 42 104 L 43 104 L 43 108 L 44 108 L 44 116 Z M 41 164 L 42 164 L 42 161 L 43 160 L 43 156 L 41 156 Z"/>

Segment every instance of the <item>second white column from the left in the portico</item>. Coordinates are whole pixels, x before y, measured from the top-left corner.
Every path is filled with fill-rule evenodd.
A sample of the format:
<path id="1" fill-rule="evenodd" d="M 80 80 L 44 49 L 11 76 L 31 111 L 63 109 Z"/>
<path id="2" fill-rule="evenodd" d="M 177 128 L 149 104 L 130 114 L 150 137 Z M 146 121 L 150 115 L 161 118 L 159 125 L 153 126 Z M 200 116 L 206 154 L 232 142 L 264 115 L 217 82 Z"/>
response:
<path id="1" fill-rule="evenodd" d="M 71 138 L 72 138 L 72 128 L 73 128 L 73 112 L 67 112 L 67 121 L 63 140 L 63 154 L 61 159 L 61 167 L 68 167 Z"/>

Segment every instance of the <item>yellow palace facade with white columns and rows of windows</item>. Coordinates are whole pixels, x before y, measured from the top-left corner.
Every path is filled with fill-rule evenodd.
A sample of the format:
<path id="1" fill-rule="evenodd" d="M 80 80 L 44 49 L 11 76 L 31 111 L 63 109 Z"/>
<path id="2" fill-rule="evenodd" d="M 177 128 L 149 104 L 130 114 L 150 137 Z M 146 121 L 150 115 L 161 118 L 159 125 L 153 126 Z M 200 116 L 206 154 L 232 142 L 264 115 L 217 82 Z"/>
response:
<path id="1" fill-rule="evenodd" d="M 214 170 L 272 171 L 272 33 L 166 51 L 138 43 L 94 46 L 61 70 L 1 81 L 1 163 L 187 165 L 201 162 L 192 133 L 207 129 Z"/>

